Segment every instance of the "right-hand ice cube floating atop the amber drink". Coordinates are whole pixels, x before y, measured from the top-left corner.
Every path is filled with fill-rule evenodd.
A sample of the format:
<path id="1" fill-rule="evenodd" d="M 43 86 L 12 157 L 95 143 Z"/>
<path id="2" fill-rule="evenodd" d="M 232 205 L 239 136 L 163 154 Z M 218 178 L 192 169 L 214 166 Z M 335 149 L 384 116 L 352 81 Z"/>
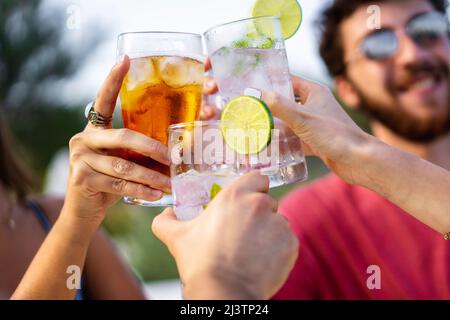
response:
<path id="1" fill-rule="evenodd" d="M 200 61 L 187 57 L 162 57 L 158 68 L 163 81 L 172 88 L 203 83 L 204 66 Z"/>

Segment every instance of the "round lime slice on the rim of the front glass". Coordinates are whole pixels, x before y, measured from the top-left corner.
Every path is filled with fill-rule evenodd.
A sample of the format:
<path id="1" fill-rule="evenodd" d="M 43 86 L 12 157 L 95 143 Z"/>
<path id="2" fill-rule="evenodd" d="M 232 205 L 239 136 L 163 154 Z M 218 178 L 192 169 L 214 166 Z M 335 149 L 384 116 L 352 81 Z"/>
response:
<path id="1" fill-rule="evenodd" d="M 270 144 L 273 117 L 260 99 L 250 96 L 232 99 L 220 120 L 225 143 L 239 154 L 256 154 Z"/>

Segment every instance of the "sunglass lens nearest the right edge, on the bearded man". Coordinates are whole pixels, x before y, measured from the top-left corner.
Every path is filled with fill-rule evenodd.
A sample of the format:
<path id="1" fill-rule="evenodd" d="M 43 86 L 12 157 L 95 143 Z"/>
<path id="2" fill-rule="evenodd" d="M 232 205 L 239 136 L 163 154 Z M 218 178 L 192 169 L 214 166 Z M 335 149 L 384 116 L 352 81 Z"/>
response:
<path id="1" fill-rule="evenodd" d="M 408 24 L 408 34 L 419 43 L 446 36 L 448 30 L 447 18 L 438 12 L 422 14 Z"/>

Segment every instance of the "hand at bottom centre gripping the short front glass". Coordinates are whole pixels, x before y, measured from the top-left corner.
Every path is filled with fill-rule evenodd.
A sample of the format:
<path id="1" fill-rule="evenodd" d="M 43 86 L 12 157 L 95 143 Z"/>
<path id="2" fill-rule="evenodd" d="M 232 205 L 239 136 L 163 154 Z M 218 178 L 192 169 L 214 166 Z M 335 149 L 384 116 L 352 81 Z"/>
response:
<path id="1" fill-rule="evenodd" d="M 254 172 L 194 220 L 177 221 L 172 209 L 155 218 L 153 232 L 175 257 L 185 298 L 268 299 L 281 288 L 298 242 L 268 190 L 268 178 Z"/>

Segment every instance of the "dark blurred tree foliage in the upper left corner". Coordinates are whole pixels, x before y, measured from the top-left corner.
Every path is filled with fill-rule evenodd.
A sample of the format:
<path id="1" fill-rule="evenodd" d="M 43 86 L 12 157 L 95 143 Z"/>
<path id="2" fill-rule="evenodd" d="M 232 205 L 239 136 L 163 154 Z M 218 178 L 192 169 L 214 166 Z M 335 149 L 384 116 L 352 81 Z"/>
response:
<path id="1" fill-rule="evenodd" d="M 100 36 L 94 26 L 77 49 L 68 48 L 65 10 L 43 10 L 42 3 L 0 2 L 0 112 L 41 180 L 52 156 L 85 124 L 81 106 L 56 105 L 59 92 L 47 96 L 44 86 L 71 77 Z"/>

